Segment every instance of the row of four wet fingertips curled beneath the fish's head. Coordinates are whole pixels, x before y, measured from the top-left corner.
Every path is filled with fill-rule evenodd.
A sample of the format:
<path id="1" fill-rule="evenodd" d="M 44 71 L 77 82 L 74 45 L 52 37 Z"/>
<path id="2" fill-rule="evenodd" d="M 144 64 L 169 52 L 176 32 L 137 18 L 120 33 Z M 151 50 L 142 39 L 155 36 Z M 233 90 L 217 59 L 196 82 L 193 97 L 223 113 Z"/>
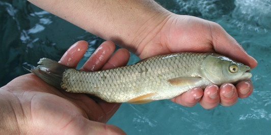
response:
<path id="1" fill-rule="evenodd" d="M 171 99 L 172 102 L 186 107 L 192 107 L 199 102 L 205 109 L 212 109 L 221 104 L 222 106 L 234 105 L 238 97 L 246 98 L 251 95 L 253 85 L 251 81 L 239 82 L 236 86 L 231 83 L 225 83 L 220 86 L 209 85 L 202 89 L 194 88 L 181 95 Z"/>

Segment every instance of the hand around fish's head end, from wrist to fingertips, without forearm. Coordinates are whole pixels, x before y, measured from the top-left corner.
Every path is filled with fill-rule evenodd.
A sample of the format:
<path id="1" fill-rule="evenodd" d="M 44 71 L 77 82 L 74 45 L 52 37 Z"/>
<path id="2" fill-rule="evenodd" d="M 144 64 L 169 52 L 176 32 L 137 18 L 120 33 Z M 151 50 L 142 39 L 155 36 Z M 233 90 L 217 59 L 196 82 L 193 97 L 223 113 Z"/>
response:
<path id="1" fill-rule="evenodd" d="M 252 68 L 257 65 L 257 61 L 249 56 L 219 24 L 176 14 L 170 14 L 165 18 L 165 21 L 158 21 L 160 24 L 153 24 L 155 27 L 151 31 L 143 30 L 143 33 L 148 33 L 147 36 L 140 33 L 139 37 L 133 40 L 136 42 L 131 43 L 137 47 L 133 51 L 140 58 L 174 52 L 216 52 Z M 219 104 L 231 106 L 237 102 L 238 97 L 248 97 L 252 91 L 252 82 L 248 80 L 235 86 L 226 83 L 220 88 L 210 85 L 204 91 L 201 88 L 194 88 L 171 100 L 189 107 L 199 102 L 203 108 L 212 109 Z"/>

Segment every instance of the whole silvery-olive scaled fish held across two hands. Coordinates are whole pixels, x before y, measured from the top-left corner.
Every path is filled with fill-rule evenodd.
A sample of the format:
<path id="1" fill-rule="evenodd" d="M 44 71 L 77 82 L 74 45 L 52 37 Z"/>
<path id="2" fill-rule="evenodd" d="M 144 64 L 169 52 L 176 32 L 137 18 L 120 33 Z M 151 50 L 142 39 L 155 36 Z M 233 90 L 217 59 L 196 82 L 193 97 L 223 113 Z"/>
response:
<path id="1" fill-rule="evenodd" d="M 84 72 L 41 58 L 31 72 L 72 93 L 87 93 L 109 103 L 144 104 L 171 99 L 194 87 L 237 83 L 252 77 L 251 68 L 216 53 L 157 55 L 114 69 Z"/>

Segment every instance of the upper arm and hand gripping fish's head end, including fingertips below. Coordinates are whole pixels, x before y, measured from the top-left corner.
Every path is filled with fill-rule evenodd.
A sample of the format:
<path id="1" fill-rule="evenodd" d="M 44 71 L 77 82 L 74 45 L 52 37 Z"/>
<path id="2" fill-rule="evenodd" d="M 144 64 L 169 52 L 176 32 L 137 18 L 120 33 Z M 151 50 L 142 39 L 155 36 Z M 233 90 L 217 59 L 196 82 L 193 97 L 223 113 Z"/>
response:
<path id="1" fill-rule="evenodd" d="M 175 52 L 216 52 L 251 68 L 257 65 L 257 61 L 219 24 L 176 15 L 154 1 L 29 1 L 94 35 L 127 48 L 142 59 Z M 211 85 L 204 92 L 194 88 L 172 100 L 183 106 L 194 106 L 199 102 L 203 108 L 211 109 L 220 103 L 231 106 L 238 97 L 248 97 L 252 90 L 250 81 L 236 86 L 223 84 L 220 89 Z"/>

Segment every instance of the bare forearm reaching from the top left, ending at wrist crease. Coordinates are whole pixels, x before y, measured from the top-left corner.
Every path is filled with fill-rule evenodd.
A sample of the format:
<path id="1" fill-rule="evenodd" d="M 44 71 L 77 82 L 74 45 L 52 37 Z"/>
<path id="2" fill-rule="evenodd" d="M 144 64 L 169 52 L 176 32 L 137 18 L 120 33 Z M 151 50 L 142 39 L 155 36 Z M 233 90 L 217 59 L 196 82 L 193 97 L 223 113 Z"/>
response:
<path id="1" fill-rule="evenodd" d="M 137 55 L 172 14 L 153 0 L 28 1 Z"/>

